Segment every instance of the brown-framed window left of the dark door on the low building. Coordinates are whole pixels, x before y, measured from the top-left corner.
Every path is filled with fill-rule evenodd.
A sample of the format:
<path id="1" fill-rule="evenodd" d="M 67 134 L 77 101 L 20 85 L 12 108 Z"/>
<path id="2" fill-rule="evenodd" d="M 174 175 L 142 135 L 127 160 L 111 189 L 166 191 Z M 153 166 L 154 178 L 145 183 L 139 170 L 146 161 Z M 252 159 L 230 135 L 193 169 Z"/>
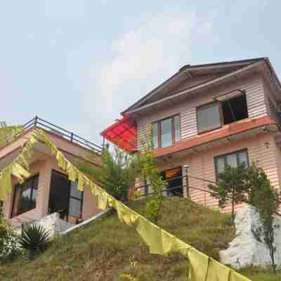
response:
<path id="1" fill-rule="evenodd" d="M 12 217 L 30 211 L 36 207 L 39 175 L 22 184 L 15 185 Z"/>

